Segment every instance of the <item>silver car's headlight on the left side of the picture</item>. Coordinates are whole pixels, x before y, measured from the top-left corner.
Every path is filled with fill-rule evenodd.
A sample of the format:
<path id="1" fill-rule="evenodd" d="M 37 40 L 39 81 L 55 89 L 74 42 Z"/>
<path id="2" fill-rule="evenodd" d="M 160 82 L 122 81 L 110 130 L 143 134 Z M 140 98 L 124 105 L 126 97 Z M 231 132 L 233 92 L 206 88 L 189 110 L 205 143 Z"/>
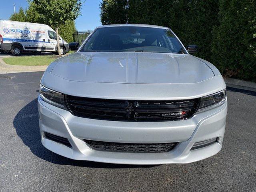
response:
<path id="1" fill-rule="evenodd" d="M 45 102 L 67 110 L 64 94 L 50 90 L 40 84 L 39 96 Z"/>

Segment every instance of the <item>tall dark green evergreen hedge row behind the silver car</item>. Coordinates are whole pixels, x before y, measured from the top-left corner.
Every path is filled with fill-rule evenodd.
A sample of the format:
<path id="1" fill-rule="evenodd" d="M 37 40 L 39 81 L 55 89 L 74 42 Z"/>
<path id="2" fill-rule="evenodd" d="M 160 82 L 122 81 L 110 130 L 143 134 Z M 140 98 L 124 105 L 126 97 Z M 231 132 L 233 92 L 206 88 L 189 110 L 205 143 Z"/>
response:
<path id="1" fill-rule="evenodd" d="M 226 77 L 256 82 L 256 0 L 103 0 L 102 24 L 167 26 Z"/>

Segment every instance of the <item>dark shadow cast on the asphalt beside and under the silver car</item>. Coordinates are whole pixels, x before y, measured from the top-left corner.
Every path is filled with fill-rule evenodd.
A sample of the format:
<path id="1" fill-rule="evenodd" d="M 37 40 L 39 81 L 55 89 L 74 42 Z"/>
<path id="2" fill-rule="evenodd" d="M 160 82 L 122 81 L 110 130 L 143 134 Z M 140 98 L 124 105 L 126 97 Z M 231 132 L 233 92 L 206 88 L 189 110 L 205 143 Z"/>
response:
<path id="1" fill-rule="evenodd" d="M 55 154 L 41 144 L 40 132 L 38 124 L 38 108 L 37 99 L 24 106 L 13 121 L 14 128 L 17 135 L 22 139 L 23 143 L 28 146 L 31 152 L 39 158 L 46 160 L 54 164 L 83 166 L 92 168 L 138 168 L 138 167 L 152 167 L 152 166 L 136 166 L 136 165 L 120 165 L 120 164 L 108 164 L 98 163 L 90 161 L 78 161 L 69 158 L 62 157 Z"/>

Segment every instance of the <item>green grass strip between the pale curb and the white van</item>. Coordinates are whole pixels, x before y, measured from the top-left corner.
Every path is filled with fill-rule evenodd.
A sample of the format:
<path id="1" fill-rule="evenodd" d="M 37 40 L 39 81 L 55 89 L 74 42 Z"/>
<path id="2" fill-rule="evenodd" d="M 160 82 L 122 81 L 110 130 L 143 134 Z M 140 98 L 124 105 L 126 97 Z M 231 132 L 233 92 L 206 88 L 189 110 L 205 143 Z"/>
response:
<path id="1" fill-rule="evenodd" d="M 25 66 L 39 66 L 49 65 L 56 60 L 59 56 L 45 55 L 45 56 L 19 56 L 3 58 L 4 62 L 9 65 L 25 65 Z"/>

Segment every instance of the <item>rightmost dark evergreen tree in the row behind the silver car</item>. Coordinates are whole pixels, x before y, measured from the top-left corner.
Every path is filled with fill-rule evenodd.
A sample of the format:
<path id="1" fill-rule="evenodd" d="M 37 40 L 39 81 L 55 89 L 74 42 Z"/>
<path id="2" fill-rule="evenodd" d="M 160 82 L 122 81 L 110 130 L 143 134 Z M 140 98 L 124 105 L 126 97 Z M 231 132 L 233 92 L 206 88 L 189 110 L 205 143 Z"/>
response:
<path id="1" fill-rule="evenodd" d="M 225 76 L 256 81 L 255 0 L 220 0 L 212 60 Z"/>

